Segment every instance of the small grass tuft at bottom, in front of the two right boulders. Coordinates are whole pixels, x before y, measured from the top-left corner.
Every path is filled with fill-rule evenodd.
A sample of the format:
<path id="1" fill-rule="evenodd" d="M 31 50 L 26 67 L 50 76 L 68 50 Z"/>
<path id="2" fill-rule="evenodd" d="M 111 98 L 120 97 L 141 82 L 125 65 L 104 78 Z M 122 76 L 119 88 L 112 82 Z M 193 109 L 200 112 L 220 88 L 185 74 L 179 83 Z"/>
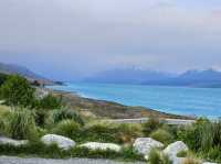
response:
<path id="1" fill-rule="evenodd" d="M 168 155 L 152 149 L 149 153 L 148 164 L 172 164 L 172 161 Z"/>

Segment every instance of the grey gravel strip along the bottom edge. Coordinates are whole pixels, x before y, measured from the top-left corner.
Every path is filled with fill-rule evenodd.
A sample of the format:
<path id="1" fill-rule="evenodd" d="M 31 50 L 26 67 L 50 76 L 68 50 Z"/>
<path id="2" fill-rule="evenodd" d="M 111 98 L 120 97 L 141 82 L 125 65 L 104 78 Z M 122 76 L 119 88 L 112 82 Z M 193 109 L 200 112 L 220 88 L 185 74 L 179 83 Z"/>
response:
<path id="1" fill-rule="evenodd" d="M 46 160 L 46 158 L 21 158 L 12 156 L 0 156 L 0 164 L 125 164 L 109 160 L 91 160 L 91 158 L 70 158 L 70 160 Z M 145 164 L 145 163 L 126 163 L 126 164 Z"/>

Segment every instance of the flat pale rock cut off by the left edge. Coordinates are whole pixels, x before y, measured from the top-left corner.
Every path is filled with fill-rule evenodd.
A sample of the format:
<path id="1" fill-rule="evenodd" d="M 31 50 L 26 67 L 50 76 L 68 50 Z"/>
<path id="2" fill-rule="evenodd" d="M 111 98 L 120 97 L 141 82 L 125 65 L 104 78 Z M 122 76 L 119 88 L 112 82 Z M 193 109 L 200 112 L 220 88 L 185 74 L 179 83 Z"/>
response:
<path id="1" fill-rule="evenodd" d="M 25 145 L 28 143 L 29 143 L 28 140 L 13 140 L 10 138 L 0 136 L 0 144 L 10 144 L 13 146 L 21 146 L 21 145 Z"/>

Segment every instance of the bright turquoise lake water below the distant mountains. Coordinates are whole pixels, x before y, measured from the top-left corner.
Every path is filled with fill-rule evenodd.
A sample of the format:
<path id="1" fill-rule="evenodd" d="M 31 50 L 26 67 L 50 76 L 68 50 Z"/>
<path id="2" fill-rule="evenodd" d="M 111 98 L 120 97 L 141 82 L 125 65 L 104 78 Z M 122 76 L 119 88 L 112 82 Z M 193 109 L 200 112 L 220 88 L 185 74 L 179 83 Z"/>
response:
<path id="1" fill-rule="evenodd" d="M 66 83 L 50 88 L 73 91 L 87 98 L 109 100 L 127 106 L 143 106 L 164 112 L 221 117 L 221 88 L 161 87 Z"/>

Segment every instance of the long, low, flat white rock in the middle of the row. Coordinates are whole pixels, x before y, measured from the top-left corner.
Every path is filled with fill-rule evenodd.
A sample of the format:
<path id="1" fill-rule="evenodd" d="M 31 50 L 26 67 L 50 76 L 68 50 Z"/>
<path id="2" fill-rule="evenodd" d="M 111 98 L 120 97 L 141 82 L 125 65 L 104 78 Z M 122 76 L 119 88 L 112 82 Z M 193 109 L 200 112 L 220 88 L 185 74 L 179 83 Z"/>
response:
<path id="1" fill-rule="evenodd" d="M 83 146 L 83 147 L 87 147 L 90 150 L 103 150 L 103 151 L 106 151 L 106 150 L 110 150 L 110 151 L 115 151 L 115 152 L 119 152 L 122 150 L 122 147 L 117 144 L 114 144 L 114 143 L 98 143 L 98 142 L 87 142 L 85 144 L 82 144 L 80 146 Z"/>

